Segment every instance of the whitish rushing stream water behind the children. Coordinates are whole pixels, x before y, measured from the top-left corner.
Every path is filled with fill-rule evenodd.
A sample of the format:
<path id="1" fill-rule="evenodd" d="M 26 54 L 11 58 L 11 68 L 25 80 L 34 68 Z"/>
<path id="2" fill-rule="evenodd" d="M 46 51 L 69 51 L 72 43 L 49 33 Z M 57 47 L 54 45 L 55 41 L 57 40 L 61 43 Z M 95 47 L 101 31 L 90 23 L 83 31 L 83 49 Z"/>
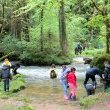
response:
<path id="1" fill-rule="evenodd" d="M 1 65 L 1 64 L 0 64 Z M 67 65 L 69 68 L 74 66 L 76 68 L 76 76 L 77 78 L 84 78 L 85 71 L 89 68 L 89 65 L 85 65 L 83 61 L 83 57 L 75 57 L 73 58 L 73 63 L 71 65 Z M 17 72 L 26 75 L 26 80 L 31 83 L 48 80 L 50 66 L 21 66 Z M 58 78 L 61 74 L 61 66 L 56 66 L 56 71 L 58 74 Z"/>

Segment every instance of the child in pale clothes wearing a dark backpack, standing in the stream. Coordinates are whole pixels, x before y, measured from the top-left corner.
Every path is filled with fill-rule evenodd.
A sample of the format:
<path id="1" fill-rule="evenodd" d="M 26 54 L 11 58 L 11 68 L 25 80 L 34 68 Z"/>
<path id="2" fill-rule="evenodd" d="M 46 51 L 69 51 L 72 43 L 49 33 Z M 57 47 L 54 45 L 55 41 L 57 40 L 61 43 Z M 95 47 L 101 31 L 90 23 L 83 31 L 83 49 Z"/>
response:
<path id="1" fill-rule="evenodd" d="M 52 86 L 56 87 L 56 78 L 57 78 L 57 72 L 55 64 L 51 65 L 51 69 L 49 70 L 50 78 L 52 79 Z"/>

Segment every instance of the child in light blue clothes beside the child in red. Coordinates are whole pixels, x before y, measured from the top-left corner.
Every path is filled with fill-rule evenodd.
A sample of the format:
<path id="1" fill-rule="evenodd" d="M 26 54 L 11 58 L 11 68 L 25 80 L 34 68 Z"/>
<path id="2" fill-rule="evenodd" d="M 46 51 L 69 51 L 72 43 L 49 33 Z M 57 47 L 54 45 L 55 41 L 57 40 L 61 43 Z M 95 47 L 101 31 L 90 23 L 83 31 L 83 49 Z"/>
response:
<path id="1" fill-rule="evenodd" d="M 60 76 L 60 83 L 61 83 L 61 86 L 62 86 L 62 89 L 63 89 L 64 98 L 66 100 L 68 99 L 68 93 L 67 93 L 68 84 L 67 84 L 67 79 L 66 79 L 68 71 L 69 71 L 69 69 L 65 65 L 63 65 L 61 76 Z"/>

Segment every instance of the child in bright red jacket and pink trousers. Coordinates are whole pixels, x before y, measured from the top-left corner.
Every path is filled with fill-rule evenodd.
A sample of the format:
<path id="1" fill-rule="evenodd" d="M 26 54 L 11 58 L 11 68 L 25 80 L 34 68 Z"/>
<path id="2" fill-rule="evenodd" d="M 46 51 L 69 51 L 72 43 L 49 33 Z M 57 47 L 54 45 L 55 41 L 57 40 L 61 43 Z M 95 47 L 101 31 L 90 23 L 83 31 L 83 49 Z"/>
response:
<path id="1" fill-rule="evenodd" d="M 77 88 L 75 71 L 76 69 L 72 67 L 71 71 L 68 72 L 66 76 L 67 82 L 70 88 L 70 94 L 69 94 L 68 99 L 74 100 L 74 101 L 76 100 L 76 88 Z"/>

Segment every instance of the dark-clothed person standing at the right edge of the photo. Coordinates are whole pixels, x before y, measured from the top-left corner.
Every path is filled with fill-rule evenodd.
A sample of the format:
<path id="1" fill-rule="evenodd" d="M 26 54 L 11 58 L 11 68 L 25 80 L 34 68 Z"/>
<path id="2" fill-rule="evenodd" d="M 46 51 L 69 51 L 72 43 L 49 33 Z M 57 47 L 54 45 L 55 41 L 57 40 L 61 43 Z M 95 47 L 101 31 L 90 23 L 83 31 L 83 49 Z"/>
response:
<path id="1" fill-rule="evenodd" d="M 110 63 L 109 62 L 104 62 L 105 65 L 105 70 L 104 70 L 104 90 L 108 89 L 110 87 Z"/>

